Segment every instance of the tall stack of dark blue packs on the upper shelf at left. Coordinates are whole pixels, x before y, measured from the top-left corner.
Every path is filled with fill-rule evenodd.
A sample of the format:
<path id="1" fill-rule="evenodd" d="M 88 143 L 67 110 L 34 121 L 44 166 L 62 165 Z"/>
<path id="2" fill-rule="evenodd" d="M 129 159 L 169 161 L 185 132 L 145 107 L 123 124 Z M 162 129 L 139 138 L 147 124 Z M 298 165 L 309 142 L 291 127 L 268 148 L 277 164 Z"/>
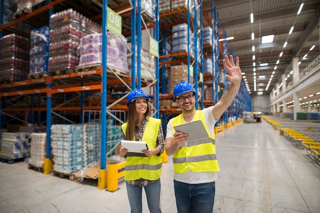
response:
<path id="1" fill-rule="evenodd" d="M 49 27 L 31 31 L 30 34 L 30 74 L 47 73 L 49 62 Z"/>

